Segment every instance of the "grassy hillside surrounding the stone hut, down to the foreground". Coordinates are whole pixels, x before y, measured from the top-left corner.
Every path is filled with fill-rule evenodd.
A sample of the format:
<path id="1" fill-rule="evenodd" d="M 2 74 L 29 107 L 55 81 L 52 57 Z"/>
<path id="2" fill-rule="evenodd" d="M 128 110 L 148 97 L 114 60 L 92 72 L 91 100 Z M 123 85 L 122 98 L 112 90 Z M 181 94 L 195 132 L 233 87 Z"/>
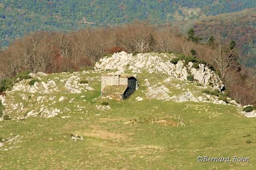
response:
<path id="1" fill-rule="evenodd" d="M 171 57 L 150 56 L 154 55 L 166 61 Z M 128 68 L 125 73 L 132 74 Z M 175 102 L 148 96 L 150 87 L 165 86 L 170 96 L 191 91 L 198 98 L 211 86 L 168 79 L 166 74 L 148 73 L 145 68 L 137 73 L 140 87 L 130 98 L 101 99 L 100 75 L 115 71 L 35 74 L 32 77 L 41 82 L 32 86 L 31 79 L 17 82 L 3 102 L 4 114 L 15 120 L 0 121 L 0 138 L 6 139 L 0 142 L 0 168 L 255 169 L 255 118 L 242 116 L 238 107 L 210 100 Z M 85 79 L 86 85 L 79 83 Z M 72 88 L 67 88 L 67 82 Z M 74 88 L 81 93 L 74 93 Z M 138 96 L 143 100 L 137 101 Z M 52 109 L 60 112 L 45 118 Z M 185 126 L 177 126 L 179 117 Z M 204 163 L 197 161 L 198 156 L 244 156 L 250 162 Z"/>

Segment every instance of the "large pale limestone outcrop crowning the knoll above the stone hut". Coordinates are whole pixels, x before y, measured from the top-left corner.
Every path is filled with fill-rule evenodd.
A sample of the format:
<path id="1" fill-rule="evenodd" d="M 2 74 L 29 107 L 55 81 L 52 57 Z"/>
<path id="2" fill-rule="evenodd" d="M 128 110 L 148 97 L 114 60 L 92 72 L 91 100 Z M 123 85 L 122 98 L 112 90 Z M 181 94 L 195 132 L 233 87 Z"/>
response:
<path id="1" fill-rule="evenodd" d="M 133 56 L 122 51 L 113 54 L 112 57 L 100 59 L 95 65 L 95 70 L 105 71 L 116 69 L 117 74 L 123 74 L 126 71 L 133 73 L 148 72 L 149 74 L 156 73 L 180 80 L 187 80 L 186 77 L 189 74 L 193 74 L 194 79 L 202 85 L 207 85 L 210 81 L 214 88 L 220 90 L 223 88 L 221 79 L 207 66 L 199 64 L 199 68 L 196 69 L 192 68 L 192 62 L 184 65 L 184 61 L 181 60 L 175 65 L 170 62 L 170 59 L 175 57 L 174 54 L 157 53 L 137 54 Z"/>

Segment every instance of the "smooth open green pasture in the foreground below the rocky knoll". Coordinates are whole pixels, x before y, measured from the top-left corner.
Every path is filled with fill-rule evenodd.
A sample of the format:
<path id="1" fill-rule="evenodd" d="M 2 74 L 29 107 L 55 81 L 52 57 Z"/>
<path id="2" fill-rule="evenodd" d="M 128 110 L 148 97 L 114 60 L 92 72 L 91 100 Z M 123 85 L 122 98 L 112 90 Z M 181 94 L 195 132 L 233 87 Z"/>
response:
<path id="1" fill-rule="evenodd" d="M 109 102 L 115 108 L 101 116 L 95 116 L 96 112 L 89 109 L 88 114 L 75 113 L 69 119 L 0 122 L 4 138 L 10 138 L 10 133 L 23 136 L 23 142 L 16 144 L 19 148 L 1 151 L 0 166 L 2 169 L 202 170 L 232 166 L 253 170 L 256 119 L 239 117 L 234 107 L 133 99 Z M 131 105 L 133 109 L 128 110 Z M 140 118 L 174 117 L 175 113 L 184 120 L 185 127 L 128 123 Z M 84 140 L 74 142 L 70 133 Z M 243 137 L 246 134 L 250 136 Z M 247 140 L 251 143 L 247 144 Z M 250 162 L 199 163 L 198 156 L 247 156 Z"/>

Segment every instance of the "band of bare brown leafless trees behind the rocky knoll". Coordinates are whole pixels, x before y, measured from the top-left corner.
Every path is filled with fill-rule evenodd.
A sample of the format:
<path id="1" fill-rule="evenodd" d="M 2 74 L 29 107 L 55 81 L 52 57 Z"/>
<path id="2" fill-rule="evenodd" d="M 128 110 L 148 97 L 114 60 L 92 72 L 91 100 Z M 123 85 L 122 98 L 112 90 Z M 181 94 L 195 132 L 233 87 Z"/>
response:
<path id="1" fill-rule="evenodd" d="M 187 61 L 200 62 L 217 71 L 230 96 L 241 104 L 256 103 L 256 78 L 238 62 L 236 41 L 208 37 L 206 43 L 191 28 L 186 37 L 177 27 L 161 28 L 135 22 L 125 26 L 85 28 L 68 32 L 32 33 L 0 52 L 0 92 L 21 71 L 47 73 L 88 69 L 101 57 L 114 52 L 169 52 Z M 186 56 L 185 56 L 185 55 Z"/>

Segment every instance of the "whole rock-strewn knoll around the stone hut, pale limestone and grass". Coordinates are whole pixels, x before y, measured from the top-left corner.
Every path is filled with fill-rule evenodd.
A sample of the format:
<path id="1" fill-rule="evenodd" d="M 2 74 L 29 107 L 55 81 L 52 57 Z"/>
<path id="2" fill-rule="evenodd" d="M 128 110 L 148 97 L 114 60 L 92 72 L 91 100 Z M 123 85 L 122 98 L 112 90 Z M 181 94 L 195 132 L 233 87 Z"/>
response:
<path id="1" fill-rule="evenodd" d="M 115 108 L 101 105 L 99 96 L 100 76 L 113 73 L 133 74 L 137 78 L 140 86 L 137 85 L 137 92 L 130 98 L 134 102 L 143 103 L 149 99 L 212 102 L 233 105 L 241 111 L 241 105 L 233 99 L 203 93 L 204 90 L 221 91 L 224 87 L 214 71 L 203 64 L 193 67 L 193 62 L 183 60 L 173 64 L 170 60 L 175 57 L 175 54 L 145 53 L 133 56 L 120 52 L 100 59 L 94 71 L 30 74 L 32 79 L 39 81 L 34 85 L 29 85 L 31 79 L 17 81 L 12 89 L 6 91 L 6 96 L 0 96 L 5 107 L 3 115 L 16 120 L 30 116 L 66 118 L 77 112 L 88 114 L 89 108 L 91 114 L 100 116 Z M 187 81 L 188 75 L 194 76 L 194 82 Z M 112 98 L 107 96 L 106 99 Z M 255 112 L 241 113 L 248 117 L 256 116 Z M 0 120 L 3 120 L 3 116 Z"/>

